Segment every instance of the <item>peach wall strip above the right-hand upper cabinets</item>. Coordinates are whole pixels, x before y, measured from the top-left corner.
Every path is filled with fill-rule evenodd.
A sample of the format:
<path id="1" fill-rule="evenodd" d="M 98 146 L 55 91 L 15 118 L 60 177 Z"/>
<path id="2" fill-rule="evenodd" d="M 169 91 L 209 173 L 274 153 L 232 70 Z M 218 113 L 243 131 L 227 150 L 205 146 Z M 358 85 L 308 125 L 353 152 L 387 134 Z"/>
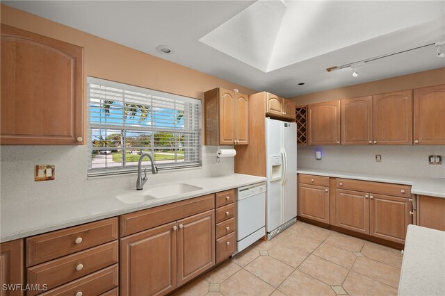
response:
<path id="1" fill-rule="evenodd" d="M 423 88 L 439 84 L 445 84 L 445 67 L 389 79 L 350 85 L 344 88 L 325 90 L 323 92 L 303 94 L 289 99 L 295 101 L 297 106 L 299 106 L 321 101 L 351 99 L 355 97 L 369 96 L 371 94 L 382 94 L 384 92 L 395 92 L 397 90 L 410 90 L 412 88 Z"/>

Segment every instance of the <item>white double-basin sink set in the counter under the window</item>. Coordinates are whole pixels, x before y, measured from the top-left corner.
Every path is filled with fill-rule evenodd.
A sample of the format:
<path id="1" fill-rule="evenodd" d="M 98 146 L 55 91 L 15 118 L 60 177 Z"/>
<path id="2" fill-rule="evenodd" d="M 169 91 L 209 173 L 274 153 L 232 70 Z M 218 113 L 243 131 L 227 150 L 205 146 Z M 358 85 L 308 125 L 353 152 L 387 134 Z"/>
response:
<path id="1" fill-rule="evenodd" d="M 188 185 L 186 183 L 173 183 L 118 195 L 116 198 L 125 204 L 139 204 L 153 199 L 163 199 L 165 197 L 183 195 L 184 193 L 201 189 L 202 188 L 200 187 Z"/>

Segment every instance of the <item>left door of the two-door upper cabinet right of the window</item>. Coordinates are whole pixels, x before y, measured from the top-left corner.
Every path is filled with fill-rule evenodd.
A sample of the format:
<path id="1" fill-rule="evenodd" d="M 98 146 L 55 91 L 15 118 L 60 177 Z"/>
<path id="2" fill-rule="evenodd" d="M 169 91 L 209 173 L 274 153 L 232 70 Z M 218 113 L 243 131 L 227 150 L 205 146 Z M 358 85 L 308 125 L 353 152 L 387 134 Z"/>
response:
<path id="1" fill-rule="evenodd" d="M 220 145 L 234 145 L 236 140 L 235 93 L 224 88 L 220 88 L 219 92 Z"/>

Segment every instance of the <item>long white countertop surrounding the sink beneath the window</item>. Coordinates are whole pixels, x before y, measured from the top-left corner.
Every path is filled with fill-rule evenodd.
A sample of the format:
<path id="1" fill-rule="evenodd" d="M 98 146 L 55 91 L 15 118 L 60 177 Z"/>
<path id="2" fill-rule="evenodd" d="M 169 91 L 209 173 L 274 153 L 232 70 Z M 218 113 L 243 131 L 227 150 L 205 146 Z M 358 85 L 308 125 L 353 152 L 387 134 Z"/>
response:
<path id="1" fill-rule="evenodd" d="M 170 204 L 172 202 L 179 202 L 184 199 L 247 186 L 261 181 L 266 181 L 266 178 L 245 174 L 230 174 L 227 176 L 184 180 L 180 183 L 187 183 L 202 189 L 183 195 L 149 200 L 140 204 L 124 204 L 116 198 L 116 195 L 136 192 L 136 189 L 134 189 L 122 190 L 120 192 L 92 192 L 91 195 L 83 197 L 82 199 L 60 199 L 60 202 L 51 201 L 48 203 L 40 202 L 35 204 L 30 202 L 26 204 L 26 206 L 21 205 L 14 208 L 5 208 L 2 206 L 0 242 L 35 236 L 36 234 L 48 231 L 72 227 L 108 217 L 115 217 L 140 211 L 145 208 Z M 168 184 L 145 185 L 144 189 L 147 190 Z M 60 194 L 63 195 L 63 192 L 60 192 Z"/>

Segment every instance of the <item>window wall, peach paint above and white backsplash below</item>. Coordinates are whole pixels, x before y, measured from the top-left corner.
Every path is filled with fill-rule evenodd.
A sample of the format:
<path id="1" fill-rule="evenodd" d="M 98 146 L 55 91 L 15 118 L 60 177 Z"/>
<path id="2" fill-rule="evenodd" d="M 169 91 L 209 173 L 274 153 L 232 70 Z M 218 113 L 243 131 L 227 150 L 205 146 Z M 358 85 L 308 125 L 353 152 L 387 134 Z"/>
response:
<path id="1" fill-rule="evenodd" d="M 3 24 L 84 47 L 85 77 L 95 76 L 197 99 L 203 99 L 205 91 L 218 86 L 238 88 L 246 94 L 255 92 L 15 8 L 0 5 L 0 10 Z M 2 211 L 8 204 L 26 204 L 31 199 L 57 199 L 63 202 L 64 199 L 75 200 L 94 196 L 97 192 L 113 192 L 136 186 L 136 174 L 88 179 L 86 146 L 1 146 L 0 149 Z M 216 149 L 202 148 L 202 167 L 149 175 L 147 184 L 183 181 L 190 179 L 190 176 L 232 174 L 233 158 L 222 159 L 217 164 Z M 38 164 L 56 165 L 56 179 L 33 181 L 33 167 Z"/>

